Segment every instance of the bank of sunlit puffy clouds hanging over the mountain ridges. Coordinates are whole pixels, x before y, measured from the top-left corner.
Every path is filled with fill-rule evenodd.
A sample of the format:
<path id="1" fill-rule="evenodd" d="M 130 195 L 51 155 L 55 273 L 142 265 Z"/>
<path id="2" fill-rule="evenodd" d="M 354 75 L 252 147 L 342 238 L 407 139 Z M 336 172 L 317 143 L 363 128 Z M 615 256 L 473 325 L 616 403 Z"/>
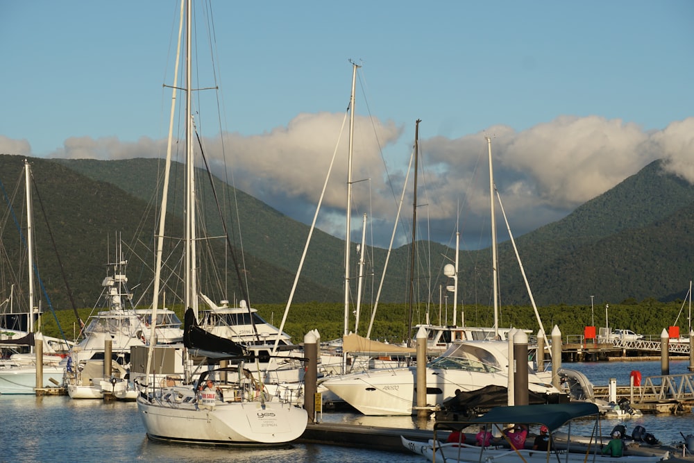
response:
<path id="1" fill-rule="evenodd" d="M 347 129 L 345 115 L 301 114 L 287 126 L 262 135 L 203 137 L 203 148 L 214 174 L 228 178 L 222 166 L 230 166 L 237 188 L 307 224 L 312 221 L 333 162 L 319 228 L 344 237 Z M 353 226 L 360 228 L 362 212 L 369 214 L 378 246 L 388 246 L 413 151 L 413 133 L 412 128 L 398 127 L 392 121 L 355 118 Z M 451 244 L 459 228 L 462 249 L 486 246 L 486 137 L 491 139 L 495 184 L 516 236 L 561 219 L 653 160 L 664 159 L 666 169 L 694 183 L 694 117 L 673 121 L 662 131 L 645 132 L 620 119 L 562 116 L 521 132 L 492 126 L 455 139 L 427 137 L 423 126 L 418 149 L 417 214 L 418 228 L 425 231 L 418 232 L 418 237 Z M 73 137 L 51 157 L 148 158 L 163 156 L 166 145 L 166 140 L 147 137 L 136 142 Z M 0 135 L 0 152 L 31 155 L 31 146 L 26 140 Z M 403 202 L 403 233 L 398 235 L 398 245 L 409 239 L 412 177 L 410 174 Z"/>

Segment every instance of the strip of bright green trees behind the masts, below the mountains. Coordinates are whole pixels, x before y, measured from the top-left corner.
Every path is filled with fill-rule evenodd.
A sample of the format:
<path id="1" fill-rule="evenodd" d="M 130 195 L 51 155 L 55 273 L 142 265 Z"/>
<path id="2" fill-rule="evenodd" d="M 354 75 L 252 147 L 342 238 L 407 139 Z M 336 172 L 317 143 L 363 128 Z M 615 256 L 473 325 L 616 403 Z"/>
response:
<path id="1" fill-rule="evenodd" d="M 606 307 L 607 306 L 607 307 Z M 183 307 L 172 308 L 183 320 Z M 259 304 L 255 306 L 258 313 L 274 326 L 280 326 L 285 305 Z M 78 310 L 80 317 L 86 320 L 91 309 Z M 355 309 L 348 310 L 349 332 L 366 335 L 372 317 L 372 307 L 364 305 L 360 310 L 359 324 L 356 325 Z M 403 342 L 408 337 L 410 308 L 407 304 L 382 304 L 373 316 L 371 339 L 387 342 Z M 457 310 L 457 325 L 493 326 L 493 309 L 486 305 L 464 305 Z M 654 298 L 641 302 L 627 299 L 621 303 L 597 301 L 591 305 L 550 305 L 538 308 L 545 334 L 550 335 L 557 326 L 563 339 L 584 334 L 586 326 L 609 326 L 611 329 L 628 329 L 638 334 L 659 339 L 663 329 L 677 326 L 680 335 L 686 336 L 691 327 L 690 309 L 682 300 L 664 303 Z M 412 308 L 413 324 L 430 323 L 452 325 L 452 308 L 441 308 L 438 305 L 415 305 Z M 606 321 L 607 317 L 607 321 Z M 539 330 L 539 323 L 533 308 L 529 305 L 505 305 L 499 309 L 500 328 L 519 328 Z M 42 314 L 41 330 L 44 335 L 61 337 L 60 328 L 68 340 L 74 340 L 79 329 L 71 310 L 59 310 Z M 356 326 L 355 326 L 356 325 Z M 356 329 L 355 329 L 356 328 Z M 340 303 L 298 303 L 291 306 L 284 331 L 295 343 L 303 342 L 304 335 L 310 330 L 318 330 L 321 340 L 337 339 L 344 332 L 344 304 Z"/>

